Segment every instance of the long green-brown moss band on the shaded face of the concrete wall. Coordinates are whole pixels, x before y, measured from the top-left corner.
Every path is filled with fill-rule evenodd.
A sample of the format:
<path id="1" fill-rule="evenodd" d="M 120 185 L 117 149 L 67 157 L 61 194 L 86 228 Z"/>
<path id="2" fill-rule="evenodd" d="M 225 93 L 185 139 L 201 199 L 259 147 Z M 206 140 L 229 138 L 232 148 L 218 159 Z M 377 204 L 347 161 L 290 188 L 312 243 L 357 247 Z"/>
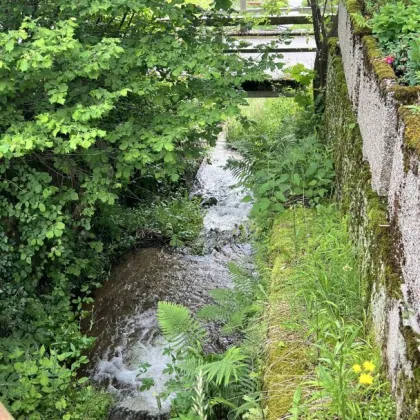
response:
<path id="1" fill-rule="evenodd" d="M 390 295 L 401 297 L 401 272 L 392 245 L 394 226 L 387 220 L 385 200 L 371 188 L 339 55 L 330 55 L 327 86 L 325 123 L 328 142 L 334 148 L 337 197 L 342 211 L 349 215 L 350 232 L 364 259 L 366 287 L 371 290 L 373 283 L 379 282 Z"/>

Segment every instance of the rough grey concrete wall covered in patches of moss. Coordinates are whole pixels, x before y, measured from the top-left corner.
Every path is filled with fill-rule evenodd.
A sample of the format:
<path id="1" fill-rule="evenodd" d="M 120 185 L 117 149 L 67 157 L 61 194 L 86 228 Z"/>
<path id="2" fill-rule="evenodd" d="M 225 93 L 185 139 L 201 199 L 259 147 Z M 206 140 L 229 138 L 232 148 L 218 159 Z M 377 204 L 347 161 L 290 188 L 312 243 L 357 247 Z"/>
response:
<path id="1" fill-rule="evenodd" d="M 399 112 L 396 82 L 387 78 L 389 69 L 381 78 L 382 66 L 369 55 L 374 41 L 354 28 L 348 8 L 340 6 L 340 39 L 330 46 L 326 133 L 398 417 L 414 420 L 420 418 L 420 182 L 417 152 L 406 152 L 414 125 Z"/>

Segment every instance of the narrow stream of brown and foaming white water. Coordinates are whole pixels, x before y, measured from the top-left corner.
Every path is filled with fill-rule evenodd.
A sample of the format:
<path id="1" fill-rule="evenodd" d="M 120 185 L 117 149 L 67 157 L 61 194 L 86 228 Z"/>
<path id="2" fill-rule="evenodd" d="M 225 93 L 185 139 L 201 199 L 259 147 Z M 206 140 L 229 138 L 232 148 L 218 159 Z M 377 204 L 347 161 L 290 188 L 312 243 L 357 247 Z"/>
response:
<path id="1" fill-rule="evenodd" d="M 116 396 L 110 419 L 168 418 L 170 401 L 159 407 L 156 399 L 169 379 L 163 370 L 170 361 L 162 355 L 165 342 L 157 325 L 157 303 L 171 301 L 197 311 L 209 302 L 209 290 L 230 286 L 227 263 L 251 254 L 250 245 L 239 240 L 239 227 L 248 218 L 250 204 L 242 202 L 246 191 L 234 187 L 236 181 L 225 169 L 231 157 L 238 156 L 226 147 L 222 133 L 193 188 L 193 195 L 213 204 L 204 217 L 205 255 L 168 248 L 134 250 L 98 290 L 91 326 L 97 341 L 90 356 L 90 375 Z M 227 344 L 217 334 L 211 336 L 216 348 Z M 151 365 L 146 373 L 142 373 L 142 363 Z M 141 392 L 144 377 L 153 378 L 155 385 Z"/>

